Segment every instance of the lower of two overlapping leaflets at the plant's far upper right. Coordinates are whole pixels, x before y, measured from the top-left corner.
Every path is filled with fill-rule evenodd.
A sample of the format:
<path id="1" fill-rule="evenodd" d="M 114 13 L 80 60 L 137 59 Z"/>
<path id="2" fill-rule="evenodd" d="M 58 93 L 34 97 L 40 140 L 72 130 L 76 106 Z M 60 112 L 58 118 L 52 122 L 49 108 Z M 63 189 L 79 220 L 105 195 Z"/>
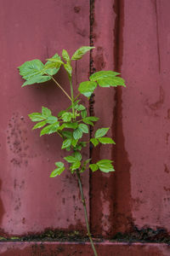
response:
<path id="1" fill-rule="evenodd" d="M 113 79 L 98 79 L 97 82 L 100 87 L 110 87 L 110 86 L 116 87 L 117 85 L 122 85 L 126 87 L 125 81 L 119 77 L 115 77 Z"/>

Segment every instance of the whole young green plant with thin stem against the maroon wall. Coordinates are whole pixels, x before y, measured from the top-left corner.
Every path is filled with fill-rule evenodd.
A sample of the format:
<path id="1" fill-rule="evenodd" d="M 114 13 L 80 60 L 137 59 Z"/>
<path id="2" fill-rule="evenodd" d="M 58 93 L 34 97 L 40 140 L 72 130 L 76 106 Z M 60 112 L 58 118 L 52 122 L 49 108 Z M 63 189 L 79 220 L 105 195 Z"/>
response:
<path id="1" fill-rule="evenodd" d="M 86 207 L 86 201 L 82 190 L 81 174 L 88 168 L 92 172 L 99 170 L 100 172 L 114 172 L 112 166 L 112 160 L 104 159 L 99 160 L 96 163 L 91 163 L 90 159 L 82 160 L 82 149 L 88 147 L 89 143 L 92 143 L 96 147 L 99 143 L 102 144 L 115 144 L 111 137 L 105 137 L 110 128 L 99 128 L 94 133 L 94 137 L 87 141 L 84 141 L 83 136 L 89 134 L 89 125 L 93 125 L 98 121 L 98 117 L 88 115 L 87 108 L 82 105 L 80 96 L 86 96 L 87 99 L 92 96 L 95 88 L 99 87 L 116 87 L 117 85 L 125 86 L 125 82 L 113 71 L 99 71 L 93 73 L 88 81 L 84 81 L 79 84 L 78 94 L 74 96 L 75 91 L 72 85 L 72 61 L 82 59 L 90 49 L 94 47 L 82 46 L 70 57 L 68 52 L 63 49 L 62 58 L 56 53 L 53 57 L 47 60 L 45 64 L 39 60 L 26 61 L 19 67 L 20 75 L 26 80 L 22 87 L 29 84 L 42 84 L 48 80 L 53 80 L 54 83 L 63 91 L 65 96 L 69 98 L 71 105 L 63 111 L 60 111 L 57 116 L 51 113 L 48 108 L 42 107 L 41 113 L 30 113 L 29 117 L 31 121 L 37 122 L 33 126 L 34 129 L 42 129 L 40 136 L 51 133 L 56 133 L 63 139 L 61 149 L 71 152 L 70 155 L 64 157 L 64 161 L 55 162 L 55 169 L 51 172 L 50 177 L 56 177 L 61 175 L 65 171 L 65 162 L 68 163 L 68 170 L 73 174 L 77 174 L 77 180 L 79 184 L 80 193 L 82 196 L 82 205 L 84 208 L 85 221 L 88 230 L 88 237 L 91 242 L 91 246 L 94 251 L 94 255 L 98 255 L 94 247 L 94 241 L 92 239 L 90 228 L 88 224 L 88 212 Z M 58 73 L 59 68 L 63 66 L 68 75 L 70 82 L 71 94 L 69 95 L 63 87 L 54 79 L 54 75 Z"/>

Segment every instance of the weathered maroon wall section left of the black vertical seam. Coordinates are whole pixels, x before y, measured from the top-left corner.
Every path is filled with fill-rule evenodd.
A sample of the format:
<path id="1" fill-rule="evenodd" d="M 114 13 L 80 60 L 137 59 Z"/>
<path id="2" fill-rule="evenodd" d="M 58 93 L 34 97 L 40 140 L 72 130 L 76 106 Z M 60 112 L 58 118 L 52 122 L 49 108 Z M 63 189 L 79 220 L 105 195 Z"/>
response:
<path id="1" fill-rule="evenodd" d="M 27 114 L 41 107 L 54 113 L 68 106 L 65 95 L 50 82 L 21 89 L 17 70 L 32 59 L 45 61 L 56 51 L 70 54 L 88 45 L 88 1 L 3 1 L 0 3 L 1 173 L 0 227 L 10 236 L 42 232 L 46 228 L 83 230 L 82 203 L 77 180 L 69 172 L 50 178 L 61 160 L 61 139 L 39 137 L 31 131 Z M 79 61 L 74 80 L 87 79 L 89 55 Z M 57 77 L 58 79 L 58 77 Z M 69 91 L 65 71 L 59 82 Z M 55 88 L 56 87 L 56 88 Z M 88 150 L 84 152 L 88 157 Z M 88 203 L 88 172 L 83 175 Z"/>

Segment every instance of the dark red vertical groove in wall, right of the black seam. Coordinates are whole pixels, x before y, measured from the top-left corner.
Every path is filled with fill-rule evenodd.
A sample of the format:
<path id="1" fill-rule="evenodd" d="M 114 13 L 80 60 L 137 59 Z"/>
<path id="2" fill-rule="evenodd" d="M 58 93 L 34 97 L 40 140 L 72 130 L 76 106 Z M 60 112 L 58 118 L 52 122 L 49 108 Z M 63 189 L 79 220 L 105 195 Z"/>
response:
<path id="1" fill-rule="evenodd" d="M 115 47 L 114 61 L 116 72 L 121 73 L 123 55 L 123 26 L 124 26 L 124 0 L 116 0 L 114 10 L 116 13 L 115 23 Z M 114 109 L 114 124 L 112 131 L 116 134 L 116 147 L 113 148 L 115 160 L 114 179 L 114 233 L 127 232 L 132 226 L 131 190 L 130 190 L 130 167 L 128 154 L 125 148 L 125 138 L 122 128 L 122 88 L 116 88 L 116 108 Z"/>

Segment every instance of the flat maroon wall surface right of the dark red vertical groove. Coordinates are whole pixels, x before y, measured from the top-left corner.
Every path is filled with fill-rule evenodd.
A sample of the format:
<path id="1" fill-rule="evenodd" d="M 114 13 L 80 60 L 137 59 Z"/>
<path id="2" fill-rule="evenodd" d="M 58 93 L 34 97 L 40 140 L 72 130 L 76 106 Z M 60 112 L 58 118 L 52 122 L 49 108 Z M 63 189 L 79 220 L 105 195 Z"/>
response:
<path id="1" fill-rule="evenodd" d="M 124 1 L 121 67 L 127 80 L 127 90 L 122 90 L 122 130 L 131 164 L 133 224 L 139 229 L 145 226 L 168 232 L 169 8 L 167 0 Z M 117 200 L 121 201 L 121 196 Z"/>

